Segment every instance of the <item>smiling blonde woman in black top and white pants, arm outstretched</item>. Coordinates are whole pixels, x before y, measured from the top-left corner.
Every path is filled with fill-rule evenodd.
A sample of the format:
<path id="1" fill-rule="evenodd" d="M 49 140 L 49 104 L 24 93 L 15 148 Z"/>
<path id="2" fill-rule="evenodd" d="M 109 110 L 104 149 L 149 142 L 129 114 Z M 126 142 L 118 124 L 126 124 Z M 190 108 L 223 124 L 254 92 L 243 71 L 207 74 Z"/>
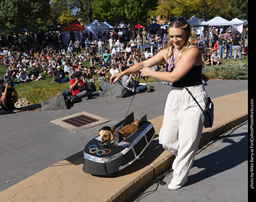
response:
<path id="1" fill-rule="evenodd" d="M 159 143 L 176 156 L 172 165 L 173 179 L 168 188 L 182 188 L 188 180 L 189 170 L 194 161 L 202 134 L 202 110 L 184 88 L 196 97 L 202 109 L 206 108 L 207 94 L 202 85 L 202 56 L 194 46 L 195 33 L 185 18 L 170 18 L 167 48 L 154 57 L 137 63 L 121 73 L 114 74 L 110 81 L 118 81 L 123 75 L 142 74 L 142 77 L 155 77 L 171 82 L 172 88 L 166 100 Z M 155 72 L 151 66 L 166 61 L 168 71 Z"/>

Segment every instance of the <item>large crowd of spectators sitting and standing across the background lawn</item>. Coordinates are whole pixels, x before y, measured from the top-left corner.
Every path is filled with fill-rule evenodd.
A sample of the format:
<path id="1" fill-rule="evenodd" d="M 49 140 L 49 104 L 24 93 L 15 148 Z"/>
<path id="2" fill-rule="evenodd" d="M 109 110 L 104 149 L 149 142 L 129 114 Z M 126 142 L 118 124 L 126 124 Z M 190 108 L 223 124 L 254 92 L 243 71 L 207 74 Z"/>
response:
<path id="1" fill-rule="evenodd" d="M 76 88 L 72 88 L 72 85 L 79 85 L 79 82 L 74 79 L 76 72 L 81 73 L 82 83 L 109 79 L 112 74 L 153 57 L 158 51 L 167 47 L 166 30 L 141 29 L 136 34 L 137 37 L 127 40 L 122 30 L 113 30 L 109 39 L 99 38 L 97 41 L 95 38 L 85 36 L 82 42 L 77 39 L 75 42 L 70 41 L 67 46 L 61 46 L 62 43 L 57 41 L 48 42 L 39 50 L 35 48 L 36 46 L 30 46 L 30 43 L 22 46 L 14 44 L 11 48 L 9 46 L 9 49 L 8 46 L 1 48 L 0 65 L 6 69 L 6 74 L 2 75 L 3 77 L 0 76 L 1 97 L 8 84 L 8 89 L 13 89 L 13 103 L 17 100 L 14 95 L 17 93 L 14 85 L 40 81 L 46 75 L 52 77 L 52 81 L 58 84 L 70 81 L 70 89 L 73 90 Z M 202 31 L 195 43 L 202 52 L 202 61 L 205 66 L 219 65 L 221 59 L 225 58 L 224 51 L 227 59 L 233 57 L 235 60 L 238 54 L 239 60 L 242 60 L 242 48 L 248 54 L 246 38 L 246 29 L 242 33 L 237 30 L 232 33 L 231 28 L 226 30 L 213 28 L 210 31 Z M 55 44 L 60 46 L 56 49 Z M 88 66 L 84 66 L 86 61 L 89 62 Z M 98 68 L 95 67 L 96 65 Z M 167 65 L 164 62 L 162 65 L 154 66 L 153 69 L 166 69 Z M 4 107 L 2 99 L 0 104 Z M 14 108 L 13 106 L 12 104 L 10 109 Z"/>

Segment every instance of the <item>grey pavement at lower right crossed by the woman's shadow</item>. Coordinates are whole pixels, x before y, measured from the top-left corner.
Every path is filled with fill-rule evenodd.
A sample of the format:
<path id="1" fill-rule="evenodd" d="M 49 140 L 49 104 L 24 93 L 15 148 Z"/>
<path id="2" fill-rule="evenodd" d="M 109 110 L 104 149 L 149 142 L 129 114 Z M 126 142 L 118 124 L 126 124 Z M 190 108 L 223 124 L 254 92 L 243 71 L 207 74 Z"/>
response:
<path id="1" fill-rule="evenodd" d="M 235 127 L 236 128 L 236 127 Z M 198 150 L 189 182 L 177 191 L 167 189 L 172 175 L 153 184 L 140 197 L 142 202 L 248 201 L 248 125 L 231 129 L 205 149 Z M 135 200 L 136 201 L 136 200 Z"/>

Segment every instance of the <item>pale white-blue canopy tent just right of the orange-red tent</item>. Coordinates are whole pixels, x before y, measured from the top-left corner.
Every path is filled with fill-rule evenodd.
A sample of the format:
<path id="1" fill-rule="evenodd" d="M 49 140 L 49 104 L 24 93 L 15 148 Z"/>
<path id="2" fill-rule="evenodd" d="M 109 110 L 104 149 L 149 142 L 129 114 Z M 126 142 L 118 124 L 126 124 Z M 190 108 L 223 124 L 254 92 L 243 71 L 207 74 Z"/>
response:
<path id="1" fill-rule="evenodd" d="M 98 22 L 98 20 L 94 20 L 94 22 L 91 22 L 88 26 L 85 26 L 85 31 L 87 31 L 88 34 L 90 34 L 90 32 L 94 34 L 94 38 L 96 38 L 97 40 L 98 40 L 98 31 L 101 31 L 102 36 L 104 32 L 106 32 L 105 33 L 105 36 L 106 36 L 108 29 L 109 29 L 109 26 L 107 26 L 103 22 Z"/>

